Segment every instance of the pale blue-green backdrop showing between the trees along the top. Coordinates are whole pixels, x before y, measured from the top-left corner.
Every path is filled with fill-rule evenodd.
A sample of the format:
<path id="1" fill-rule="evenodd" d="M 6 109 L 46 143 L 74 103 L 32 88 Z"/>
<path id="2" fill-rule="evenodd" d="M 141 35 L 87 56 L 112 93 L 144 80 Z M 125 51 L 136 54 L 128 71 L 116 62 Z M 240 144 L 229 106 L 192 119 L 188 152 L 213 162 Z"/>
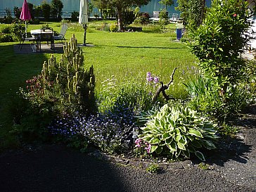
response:
<path id="1" fill-rule="evenodd" d="M 27 0 L 28 3 L 33 4 L 35 6 L 39 6 L 42 0 Z M 51 0 L 46 0 L 49 3 Z M 160 11 L 164 6 L 159 4 L 160 0 L 152 0 L 146 6 L 141 7 L 141 12 L 148 12 L 149 14 L 153 14 L 153 11 Z M 207 1 L 207 6 L 210 6 L 210 0 Z M 79 0 L 62 0 L 63 2 L 63 11 L 79 11 Z M 0 0 L 0 11 L 4 11 L 5 8 L 10 8 L 13 11 L 14 6 L 22 7 L 23 0 Z M 167 11 L 169 13 L 179 13 L 176 11 L 174 7 L 177 6 L 177 2 L 175 1 L 173 6 L 168 6 Z M 96 11 L 96 10 L 95 10 Z"/>

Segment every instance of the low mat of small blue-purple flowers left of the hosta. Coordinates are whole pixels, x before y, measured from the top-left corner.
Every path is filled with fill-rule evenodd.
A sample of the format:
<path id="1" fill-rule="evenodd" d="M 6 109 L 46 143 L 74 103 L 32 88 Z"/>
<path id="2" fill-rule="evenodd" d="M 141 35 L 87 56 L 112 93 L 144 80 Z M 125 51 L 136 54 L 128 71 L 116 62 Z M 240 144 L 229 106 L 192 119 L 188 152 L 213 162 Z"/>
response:
<path id="1" fill-rule="evenodd" d="M 77 113 L 77 115 L 57 118 L 48 128 L 52 134 L 60 136 L 65 141 L 72 143 L 82 141 L 83 146 L 87 146 L 84 144 L 84 141 L 87 141 L 88 144 L 105 153 L 119 153 L 126 147 L 124 141 L 127 141 L 132 132 L 132 123 L 113 116 L 114 114 L 98 113 L 85 117 Z"/>

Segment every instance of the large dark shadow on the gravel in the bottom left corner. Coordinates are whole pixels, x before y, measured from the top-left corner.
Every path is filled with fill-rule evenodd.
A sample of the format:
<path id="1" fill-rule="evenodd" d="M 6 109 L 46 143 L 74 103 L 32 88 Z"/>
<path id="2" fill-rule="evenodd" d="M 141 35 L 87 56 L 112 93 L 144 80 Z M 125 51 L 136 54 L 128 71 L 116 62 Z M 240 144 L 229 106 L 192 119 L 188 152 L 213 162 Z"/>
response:
<path id="1" fill-rule="evenodd" d="M 0 155 L 0 191 L 124 191 L 110 163 L 64 146 Z"/>

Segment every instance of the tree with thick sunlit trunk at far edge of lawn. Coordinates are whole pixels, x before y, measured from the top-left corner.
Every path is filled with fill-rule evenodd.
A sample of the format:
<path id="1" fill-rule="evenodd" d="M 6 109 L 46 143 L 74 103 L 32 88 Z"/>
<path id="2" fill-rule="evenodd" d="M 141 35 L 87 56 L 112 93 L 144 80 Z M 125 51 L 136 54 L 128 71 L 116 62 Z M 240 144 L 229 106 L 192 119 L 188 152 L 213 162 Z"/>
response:
<path id="1" fill-rule="evenodd" d="M 115 8 L 117 12 L 117 23 L 118 30 L 124 30 L 124 18 L 123 13 L 127 8 L 132 6 L 143 6 L 148 4 L 150 0 L 92 0 L 94 5 L 97 8 L 105 9 L 105 8 Z"/>

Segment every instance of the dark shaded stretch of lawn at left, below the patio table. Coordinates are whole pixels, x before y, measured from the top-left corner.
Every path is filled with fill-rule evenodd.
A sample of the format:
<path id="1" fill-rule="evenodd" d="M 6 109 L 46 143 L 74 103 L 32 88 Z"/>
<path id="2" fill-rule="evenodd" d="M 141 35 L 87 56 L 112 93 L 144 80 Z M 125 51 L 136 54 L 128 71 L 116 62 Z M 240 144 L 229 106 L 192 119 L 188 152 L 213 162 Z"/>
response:
<path id="1" fill-rule="evenodd" d="M 17 145 L 16 139 L 9 133 L 13 126 L 10 103 L 17 96 L 19 87 L 25 88 L 26 80 L 40 74 L 44 60 L 48 60 L 45 54 L 16 54 L 15 44 L 18 43 L 0 46 L 0 148 Z"/>

